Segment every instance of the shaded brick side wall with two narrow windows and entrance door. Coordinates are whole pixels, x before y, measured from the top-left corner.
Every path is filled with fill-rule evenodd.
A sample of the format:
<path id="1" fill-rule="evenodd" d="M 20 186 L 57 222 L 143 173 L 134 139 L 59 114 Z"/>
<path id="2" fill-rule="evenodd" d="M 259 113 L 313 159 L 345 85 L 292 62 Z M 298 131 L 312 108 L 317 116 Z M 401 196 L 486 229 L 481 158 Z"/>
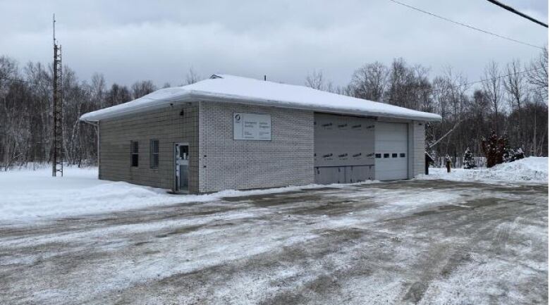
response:
<path id="1" fill-rule="evenodd" d="M 180 116 L 183 110 L 183 116 Z M 188 142 L 189 189 L 198 192 L 198 104 L 99 122 L 99 179 L 171 189 L 173 144 Z M 150 168 L 149 140 L 159 140 L 159 167 Z M 130 141 L 139 142 L 139 166 L 130 166 Z"/>

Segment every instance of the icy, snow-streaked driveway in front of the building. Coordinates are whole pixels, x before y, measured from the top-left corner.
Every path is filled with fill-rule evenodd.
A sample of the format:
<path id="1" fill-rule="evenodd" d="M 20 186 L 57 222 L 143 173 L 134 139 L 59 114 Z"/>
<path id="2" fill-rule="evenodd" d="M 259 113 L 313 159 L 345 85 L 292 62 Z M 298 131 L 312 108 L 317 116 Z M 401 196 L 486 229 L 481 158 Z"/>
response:
<path id="1" fill-rule="evenodd" d="M 548 185 L 348 185 L 0 225 L 1 304 L 546 304 Z"/>

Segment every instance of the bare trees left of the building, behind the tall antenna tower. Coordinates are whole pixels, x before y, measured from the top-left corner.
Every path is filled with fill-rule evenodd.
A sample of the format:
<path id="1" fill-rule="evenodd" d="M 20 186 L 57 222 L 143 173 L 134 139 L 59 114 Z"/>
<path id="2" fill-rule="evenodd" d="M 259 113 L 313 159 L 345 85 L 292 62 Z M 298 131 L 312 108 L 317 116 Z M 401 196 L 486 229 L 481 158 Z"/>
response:
<path id="1" fill-rule="evenodd" d="M 29 62 L 19 66 L 0 56 L 0 168 L 7 170 L 27 163 L 47 163 L 53 138 L 53 73 L 50 66 Z M 199 80 L 190 69 L 185 83 Z M 138 99 L 159 89 L 151 80 L 130 86 L 107 85 L 104 75 L 95 73 L 90 82 L 78 79 L 74 70 L 63 66 L 63 159 L 78 166 L 97 161 L 97 130 L 80 122 L 84 113 Z M 170 87 L 166 83 L 162 87 Z"/>

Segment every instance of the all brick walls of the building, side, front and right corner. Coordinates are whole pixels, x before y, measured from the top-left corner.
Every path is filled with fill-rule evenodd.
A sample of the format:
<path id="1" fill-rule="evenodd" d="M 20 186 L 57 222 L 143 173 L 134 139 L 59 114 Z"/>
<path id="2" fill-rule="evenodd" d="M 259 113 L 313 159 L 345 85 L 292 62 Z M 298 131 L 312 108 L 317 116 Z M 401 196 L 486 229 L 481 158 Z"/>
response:
<path id="1" fill-rule="evenodd" d="M 233 140 L 234 112 L 270 114 L 271 141 Z M 424 171 L 424 123 L 409 123 L 414 176 Z M 99 129 L 100 179 L 171 189 L 173 143 L 188 142 L 193 193 L 314 182 L 312 111 L 203 101 L 102 120 Z M 149 166 L 150 139 L 159 139 L 159 167 L 154 169 Z M 130 141 L 140 144 L 137 168 L 130 166 Z"/>

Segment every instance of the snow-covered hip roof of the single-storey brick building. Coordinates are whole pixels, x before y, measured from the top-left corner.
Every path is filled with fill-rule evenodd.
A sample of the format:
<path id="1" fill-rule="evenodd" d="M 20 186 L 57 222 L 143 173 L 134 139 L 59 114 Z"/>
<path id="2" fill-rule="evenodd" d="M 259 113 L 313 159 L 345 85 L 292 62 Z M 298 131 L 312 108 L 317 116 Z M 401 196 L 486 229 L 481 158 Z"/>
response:
<path id="1" fill-rule="evenodd" d="M 212 75 L 183 87 L 160 89 L 127 103 L 85 113 L 80 120 L 97 122 L 188 101 L 231 102 L 295 108 L 353 116 L 381 116 L 437 121 L 441 116 L 390 104 L 324 92 L 310 87 L 286 85 L 233 75 Z"/>

